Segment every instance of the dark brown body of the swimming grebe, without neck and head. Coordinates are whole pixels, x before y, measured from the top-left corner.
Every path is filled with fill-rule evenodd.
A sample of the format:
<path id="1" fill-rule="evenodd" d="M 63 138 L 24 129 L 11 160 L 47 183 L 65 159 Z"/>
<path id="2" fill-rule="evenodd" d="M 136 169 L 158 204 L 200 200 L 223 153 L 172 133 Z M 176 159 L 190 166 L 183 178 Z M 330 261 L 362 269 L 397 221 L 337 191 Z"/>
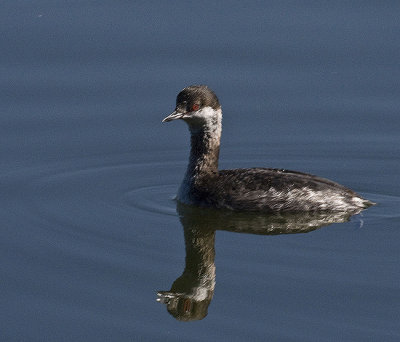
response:
<path id="1" fill-rule="evenodd" d="M 372 204 L 328 179 L 268 168 L 221 170 L 196 182 L 191 193 L 192 204 L 233 210 L 345 211 Z"/>

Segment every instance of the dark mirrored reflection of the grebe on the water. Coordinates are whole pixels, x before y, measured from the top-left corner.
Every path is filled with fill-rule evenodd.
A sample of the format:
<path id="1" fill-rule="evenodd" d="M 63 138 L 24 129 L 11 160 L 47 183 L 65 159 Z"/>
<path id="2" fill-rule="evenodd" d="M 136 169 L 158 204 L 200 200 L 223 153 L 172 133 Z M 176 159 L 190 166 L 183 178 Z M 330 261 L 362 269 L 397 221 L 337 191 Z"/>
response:
<path id="1" fill-rule="evenodd" d="M 308 233 L 332 223 L 346 222 L 361 210 L 338 213 L 260 214 L 204 209 L 177 203 L 185 236 L 185 269 L 157 301 L 180 321 L 207 316 L 215 288 L 215 232 L 278 235 Z"/>

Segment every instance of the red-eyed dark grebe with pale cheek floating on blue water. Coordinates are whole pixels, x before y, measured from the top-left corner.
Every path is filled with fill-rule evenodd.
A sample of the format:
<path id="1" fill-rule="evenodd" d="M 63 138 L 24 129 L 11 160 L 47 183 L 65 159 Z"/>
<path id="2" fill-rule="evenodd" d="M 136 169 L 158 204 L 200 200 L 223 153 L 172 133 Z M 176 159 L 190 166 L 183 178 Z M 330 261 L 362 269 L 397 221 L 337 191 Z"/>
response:
<path id="1" fill-rule="evenodd" d="M 281 169 L 218 170 L 222 110 L 204 85 L 183 89 L 163 122 L 189 125 L 191 151 L 177 199 L 201 207 L 252 211 L 361 211 L 373 203 L 354 191 L 306 173 Z"/>

